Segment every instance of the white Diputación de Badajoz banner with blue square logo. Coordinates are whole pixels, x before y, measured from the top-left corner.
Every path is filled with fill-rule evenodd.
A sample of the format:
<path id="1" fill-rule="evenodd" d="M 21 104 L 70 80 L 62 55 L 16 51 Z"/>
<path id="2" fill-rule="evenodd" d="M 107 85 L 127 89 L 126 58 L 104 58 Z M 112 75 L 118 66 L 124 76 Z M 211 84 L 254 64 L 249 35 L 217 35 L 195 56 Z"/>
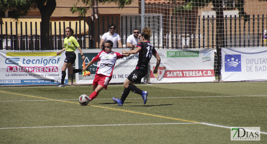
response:
<path id="1" fill-rule="evenodd" d="M 266 48 L 222 48 L 222 81 L 267 80 Z"/>

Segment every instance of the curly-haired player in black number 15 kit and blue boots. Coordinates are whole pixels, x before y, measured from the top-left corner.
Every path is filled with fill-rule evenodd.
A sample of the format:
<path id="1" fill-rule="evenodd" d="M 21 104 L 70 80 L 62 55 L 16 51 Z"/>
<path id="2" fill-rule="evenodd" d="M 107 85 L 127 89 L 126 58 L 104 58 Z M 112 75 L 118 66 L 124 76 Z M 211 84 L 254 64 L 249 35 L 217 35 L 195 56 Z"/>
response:
<path id="1" fill-rule="evenodd" d="M 135 92 L 137 94 L 140 94 L 142 98 L 144 99 L 144 104 L 147 102 L 147 91 L 143 91 L 139 88 L 137 88 L 134 83 L 141 83 L 141 79 L 146 76 L 147 70 L 148 70 L 148 63 L 154 55 L 157 59 L 157 64 L 155 66 L 155 69 L 153 70 L 153 73 L 158 72 L 158 67 L 160 64 L 160 57 L 155 48 L 152 47 L 152 44 L 149 43 L 149 39 L 151 36 L 151 30 L 148 27 L 143 28 L 143 32 L 141 34 L 141 43 L 139 43 L 136 46 L 135 50 L 131 51 L 122 51 L 122 54 L 137 54 L 139 52 L 139 58 L 138 63 L 136 65 L 135 70 L 131 72 L 131 74 L 127 77 L 125 80 L 123 86 L 124 91 L 121 95 L 121 98 L 116 99 L 115 97 L 112 97 L 113 101 L 115 101 L 119 106 L 122 106 L 126 97 L 130 93 L 130 90 L 132 92 Z"/>

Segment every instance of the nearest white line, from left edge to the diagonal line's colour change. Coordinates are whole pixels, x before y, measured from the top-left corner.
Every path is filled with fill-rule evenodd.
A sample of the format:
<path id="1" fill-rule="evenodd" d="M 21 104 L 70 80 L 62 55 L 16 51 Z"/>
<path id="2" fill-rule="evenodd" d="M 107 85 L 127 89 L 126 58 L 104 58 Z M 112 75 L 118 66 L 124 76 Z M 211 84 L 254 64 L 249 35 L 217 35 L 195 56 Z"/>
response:
<path id="1" fill-rule="evenodd" d="M 26 128 L 48 128 L 48 127 L 82 127 L 82 126 L 124 126 L 124 125 L 171 125 L 171 124 L 198 124 L 198 123 L 154 123 L 154 124 L 110 124 L 110 125 L 73 125 L 73 126 L 34 126 L 34 127 L 3 127 L 0 129 L 26 129 Z"/>

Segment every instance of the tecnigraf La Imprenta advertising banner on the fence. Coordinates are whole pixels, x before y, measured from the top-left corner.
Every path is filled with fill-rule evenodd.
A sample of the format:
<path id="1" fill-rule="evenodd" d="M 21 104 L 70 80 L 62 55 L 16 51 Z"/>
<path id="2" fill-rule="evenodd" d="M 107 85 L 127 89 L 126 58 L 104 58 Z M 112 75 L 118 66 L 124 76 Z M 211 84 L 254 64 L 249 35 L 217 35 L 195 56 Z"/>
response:
<path id="1" fill-rule="evenodd" d="M 65 51 L 0 50 L 0 85 L 56 85 L 61 82 Z M 68 74 L 65 84 L 68 83 Z"/>

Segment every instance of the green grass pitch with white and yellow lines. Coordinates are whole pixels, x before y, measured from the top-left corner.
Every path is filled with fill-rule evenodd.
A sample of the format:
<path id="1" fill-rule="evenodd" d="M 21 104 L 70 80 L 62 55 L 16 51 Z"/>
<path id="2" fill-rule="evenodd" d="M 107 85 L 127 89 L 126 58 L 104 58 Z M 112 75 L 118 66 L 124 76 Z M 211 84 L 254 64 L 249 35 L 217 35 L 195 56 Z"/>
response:
<path id="1" fill-rule="evenodd" d="M 122 84 L 87 106 L 92 85 L 0 87 L 0 143 L 267 143 L 267 82 Z M 230 141 L 229 127 L 260 127 L 260 141 Z"/>

